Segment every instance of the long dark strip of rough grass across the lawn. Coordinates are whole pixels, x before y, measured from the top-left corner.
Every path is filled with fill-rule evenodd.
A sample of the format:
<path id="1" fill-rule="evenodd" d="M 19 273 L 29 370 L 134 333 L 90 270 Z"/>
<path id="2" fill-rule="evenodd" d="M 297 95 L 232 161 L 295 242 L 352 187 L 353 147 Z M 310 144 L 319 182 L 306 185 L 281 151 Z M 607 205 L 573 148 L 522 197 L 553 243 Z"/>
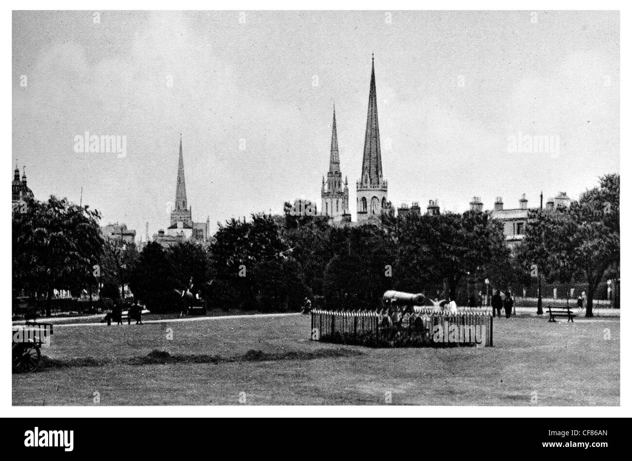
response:
<path id="1" fill-rule="evenodd" d="M 61 360 L 50 358 L 46 355 L 42 357 L 40 370 L 60 369 L 73 367 L 103 367 L 109 364 L 116 365 L 171 365 L 176 363 L 235 363 L 235 362 L 274 362 L 278 360 L 314 360 L 316 358 L 329 357 L 357 357 L 363 355 L 360 351 L 348 349 L 320 349 L 313 352 L 287 351 L 287 352 L 264 352 L 260 350 L 249 350 L 243 355 L 234 357 L 221 357 L 221 355 L 204 354 L 176 354 L 171 355 L 167 351 L 154 349 L 145 357 L 129 357 L 122 360 L 96 359 L 94 357 L 72 358 Z"/>

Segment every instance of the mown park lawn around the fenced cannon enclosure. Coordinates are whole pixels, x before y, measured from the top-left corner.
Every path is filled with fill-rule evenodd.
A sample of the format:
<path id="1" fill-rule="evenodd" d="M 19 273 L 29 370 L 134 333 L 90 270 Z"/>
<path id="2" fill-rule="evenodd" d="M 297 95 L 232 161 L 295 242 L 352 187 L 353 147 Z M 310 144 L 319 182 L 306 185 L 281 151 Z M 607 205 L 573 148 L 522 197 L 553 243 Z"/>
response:
<path id="1" fill-rule="evenodd" d="M 493 348 L 449 349 L 309 341 L 307 315 L 59 325 L 13 405 L 619 405 L 618 318 L 494 320 Z M 154 350 L 203 363 L 144 364 Z"/>

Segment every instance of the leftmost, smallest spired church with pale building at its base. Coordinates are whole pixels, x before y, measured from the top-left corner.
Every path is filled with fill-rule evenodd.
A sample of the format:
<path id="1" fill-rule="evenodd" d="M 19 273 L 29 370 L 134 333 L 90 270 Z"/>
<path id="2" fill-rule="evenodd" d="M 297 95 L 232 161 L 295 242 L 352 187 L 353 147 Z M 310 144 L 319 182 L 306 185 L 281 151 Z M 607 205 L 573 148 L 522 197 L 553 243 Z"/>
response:
<path id="1" fill-rule="evenodd" d="M 198 243 L 208 242 L 210 239 L 210 220 L 206 222 L 193 222 L 191 207 L 186 203 L 185 161 L 182 155 L 182 138 L 180 138 L 180 154 L 178 158 L 178 178 L 176 179 L 176 201 L 171 211 L 171 225 L 167 227 L 167 233 L 159 230 L 154 234 L 154 241 L 162 246 L 171 246 L 178 242 L 193 241 Z"/>

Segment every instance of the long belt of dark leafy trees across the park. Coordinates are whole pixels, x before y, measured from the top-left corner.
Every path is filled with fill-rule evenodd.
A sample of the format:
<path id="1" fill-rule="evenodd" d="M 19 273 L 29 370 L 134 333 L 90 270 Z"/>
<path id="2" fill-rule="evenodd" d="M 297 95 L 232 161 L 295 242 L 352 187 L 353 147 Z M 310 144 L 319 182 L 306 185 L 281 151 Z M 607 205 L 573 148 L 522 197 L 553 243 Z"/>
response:
<path id="1" fill-rule="evenodd" d="M 404 217 L 382 225 L 337 227 L 324 217 L 257 214 L 219 225 L 209 246 L 104 240 L 100 215 L 53 196 L 13 213 L 13 287 L 51 298 L 55 288 L 123 287 L 153 310 L 178 305 L 181 293 L 211 306 L 297 310 L 304 298 L 329 308 L 375 308 L 387 289 L 457 299 L 464 282 L 489 279 L 499 289 L 546 281 L 588 284 L 586 315 L 604 278 L 619 272 L 619 176 L 607 175 L 568 210 L 530 212 L 525 241 L 513 253 L 487 213 Z M 469 284 L 465 284 L 466 287 Z M 180 294 L 178 294 L 180 293 Z"/>

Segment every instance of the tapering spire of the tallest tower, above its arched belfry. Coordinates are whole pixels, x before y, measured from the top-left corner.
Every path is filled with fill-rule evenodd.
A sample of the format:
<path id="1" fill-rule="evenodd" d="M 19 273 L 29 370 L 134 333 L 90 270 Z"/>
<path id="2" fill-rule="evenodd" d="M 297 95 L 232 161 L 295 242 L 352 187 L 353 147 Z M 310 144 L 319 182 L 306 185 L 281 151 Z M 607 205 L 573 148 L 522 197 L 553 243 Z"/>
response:
<path id="1" fill-rule="evenodd" d="M 380 128 L 377 123 L 377 94 L 375 92 L 375 65 L 371 56 L 371 85 L 368 92 L 367 130 L 364 137 L 362 157 L 362 181 L 368 177 L 370 184 L 377 186 L 382 179 L 382 153 L 380 152 Z"/>

